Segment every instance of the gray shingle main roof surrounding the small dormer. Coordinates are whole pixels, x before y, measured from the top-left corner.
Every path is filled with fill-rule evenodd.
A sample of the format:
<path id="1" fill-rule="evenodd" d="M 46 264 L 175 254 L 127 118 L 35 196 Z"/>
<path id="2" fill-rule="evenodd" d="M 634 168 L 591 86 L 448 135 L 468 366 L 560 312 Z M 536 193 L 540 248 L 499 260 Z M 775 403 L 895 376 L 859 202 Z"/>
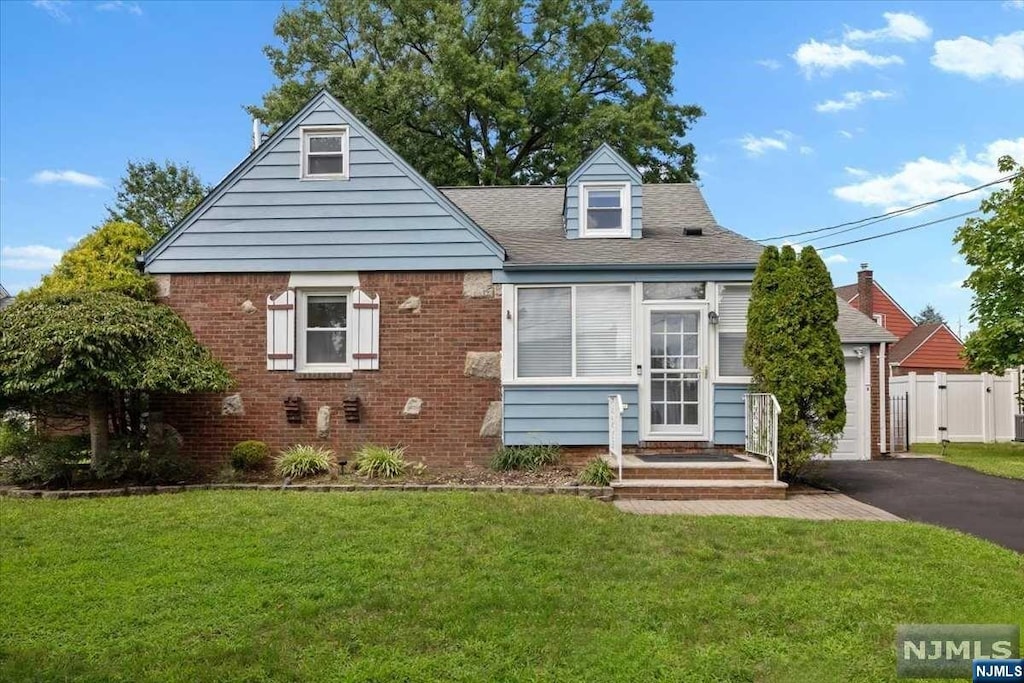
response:
<path id="1" fill-rule="evenodd" d="M 442 187 L 441 191 L 490 233 L 510 267 L 526 265 L 754 265 L 758 243 L 715 222 L 696 185 L 643 186 L 643 239 L 566 240 L 562 185 Z M 703 234 L 684 236 L 684 227 Z"/>

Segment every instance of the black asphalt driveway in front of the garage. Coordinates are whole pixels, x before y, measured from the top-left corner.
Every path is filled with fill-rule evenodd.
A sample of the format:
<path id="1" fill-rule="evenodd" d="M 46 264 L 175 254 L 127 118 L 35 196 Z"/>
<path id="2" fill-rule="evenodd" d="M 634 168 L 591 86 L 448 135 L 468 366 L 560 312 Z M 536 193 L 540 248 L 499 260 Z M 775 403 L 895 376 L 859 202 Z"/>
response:
<path id="1" fill-rule="evenodd" d="M 927 458 L 823 462 L 823 483 L 904 519 L 938 524 L 1024 553 L 1024 480 Z"/>

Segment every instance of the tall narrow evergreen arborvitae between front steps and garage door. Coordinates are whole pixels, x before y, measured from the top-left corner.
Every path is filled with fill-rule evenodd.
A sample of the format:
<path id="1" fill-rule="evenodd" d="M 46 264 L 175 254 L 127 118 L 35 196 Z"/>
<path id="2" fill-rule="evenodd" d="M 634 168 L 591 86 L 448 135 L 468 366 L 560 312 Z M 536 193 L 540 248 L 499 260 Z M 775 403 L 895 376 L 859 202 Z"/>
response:
<path id="1" fill-rule="evenodd" d="M 779 471 L 828 454 L 846 425 L 846 371 L 831 278 L 817 252 L 768 247 L 754 275 L 743 359 L 754 389 L 774 394 Z"/>

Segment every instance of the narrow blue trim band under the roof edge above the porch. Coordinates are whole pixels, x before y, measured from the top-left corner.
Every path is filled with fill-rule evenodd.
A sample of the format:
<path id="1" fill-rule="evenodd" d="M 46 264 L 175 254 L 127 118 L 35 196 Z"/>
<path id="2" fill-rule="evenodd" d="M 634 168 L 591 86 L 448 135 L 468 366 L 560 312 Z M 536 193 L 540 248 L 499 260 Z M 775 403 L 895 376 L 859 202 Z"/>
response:
<path id="1" fill-rule="evenodd" d="M 719 283 L 749 283 L 754 278 L 754 263 L 682 264 L 671 266 L 638 267 L 624 264 L 621 268 L 572 268 L 557 270 L 506 267 L 495 270 L 495 282 L 504 285 L 557 285 L 562 283 L 666 283 L 682 281 L 715 281 Z"/>

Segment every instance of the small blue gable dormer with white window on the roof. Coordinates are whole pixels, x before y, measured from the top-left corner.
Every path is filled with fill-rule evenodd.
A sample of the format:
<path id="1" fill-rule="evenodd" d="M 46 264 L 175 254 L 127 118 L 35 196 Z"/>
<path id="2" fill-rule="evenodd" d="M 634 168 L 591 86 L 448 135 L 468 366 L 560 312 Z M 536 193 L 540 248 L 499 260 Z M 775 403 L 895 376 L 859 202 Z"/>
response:
<path id="1" fill-rule="evenodd" d="M 565 237 L 575 239 L 642 236 L 643 179 L 604 142 L 565 182 Z"/>

